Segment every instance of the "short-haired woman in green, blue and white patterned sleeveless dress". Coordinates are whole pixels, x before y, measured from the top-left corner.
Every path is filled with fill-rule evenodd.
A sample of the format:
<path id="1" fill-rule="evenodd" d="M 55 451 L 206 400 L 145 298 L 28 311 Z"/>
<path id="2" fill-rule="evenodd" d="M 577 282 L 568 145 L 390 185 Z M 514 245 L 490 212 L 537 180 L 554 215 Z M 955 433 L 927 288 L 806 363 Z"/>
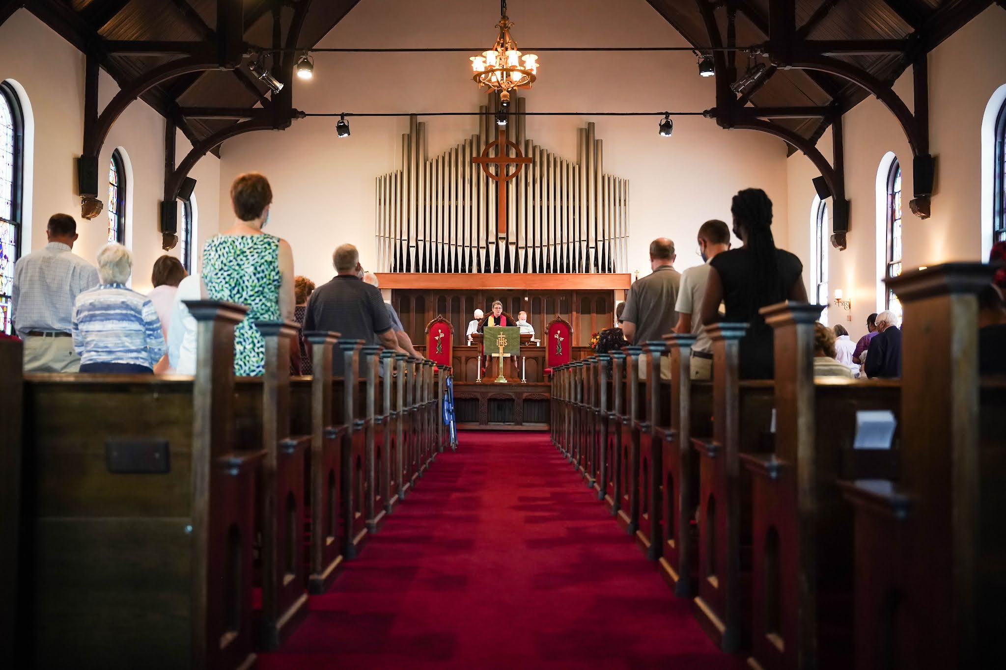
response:
<path id="1" fill-rule="evenodd" d="M 234 328 L 234 375 L 256 377 L 265 372 L 266 343 L 255 322 L 294 317 L 294 255 L 286 240 L 262 232 L 273 203 L 265 177 L 238 175 L 230 203 L 234 225 L 202 247 L 202 282 L 210 300 L 248 308 Z"/>

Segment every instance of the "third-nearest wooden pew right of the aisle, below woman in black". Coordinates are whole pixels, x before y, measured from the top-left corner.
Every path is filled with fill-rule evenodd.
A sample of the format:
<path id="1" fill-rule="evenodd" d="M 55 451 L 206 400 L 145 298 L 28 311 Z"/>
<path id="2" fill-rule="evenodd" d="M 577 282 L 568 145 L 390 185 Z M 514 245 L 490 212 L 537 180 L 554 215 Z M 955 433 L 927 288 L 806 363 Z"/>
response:
<path id="1" fill-rule="evenodd" d="M 713 342 L 712 439 L 699 453 L 699 570 L 695 616 L 725 652 L 747 643 L 750 607 L 750 477 L 741 453 L 771 450 L 771 381 L 740 381 L 738 343 L 746 323 L 705 326 Z"/>

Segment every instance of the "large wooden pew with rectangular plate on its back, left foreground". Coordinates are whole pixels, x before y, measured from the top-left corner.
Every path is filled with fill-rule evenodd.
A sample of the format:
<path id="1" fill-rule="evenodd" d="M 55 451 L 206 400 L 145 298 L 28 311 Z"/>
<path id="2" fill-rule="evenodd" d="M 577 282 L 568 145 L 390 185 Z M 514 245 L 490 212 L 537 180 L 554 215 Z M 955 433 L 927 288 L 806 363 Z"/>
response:
<path id="1" fill-rule="evenodd" d="M 238 305 L 188 302 L 194 380 L 27 375 L 20 667 L 246 668 L 255 481 L 234 443 Z"/>

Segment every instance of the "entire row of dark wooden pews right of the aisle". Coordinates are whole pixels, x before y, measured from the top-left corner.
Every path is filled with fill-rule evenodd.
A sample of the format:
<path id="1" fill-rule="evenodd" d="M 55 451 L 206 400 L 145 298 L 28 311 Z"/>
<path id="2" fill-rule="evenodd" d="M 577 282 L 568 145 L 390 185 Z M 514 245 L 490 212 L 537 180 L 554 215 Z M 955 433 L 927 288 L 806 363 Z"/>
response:
<path id="1" fill-rule="evenodd" d="M 980 667 L 1006 597 L 993 272 L 949 263 L 888 280 L 906 324 L 899 379 L 853 379 L 816 323 L 822 305 L 792 300 L 760 309 L 768 379 L 743 373 L 764 368 L 743 364 L 748 323 L 725 320 L 702 330 L 710 382 L 690 372 L 691 332 L 559 366 L 552 440 L 750 667 Z"/>

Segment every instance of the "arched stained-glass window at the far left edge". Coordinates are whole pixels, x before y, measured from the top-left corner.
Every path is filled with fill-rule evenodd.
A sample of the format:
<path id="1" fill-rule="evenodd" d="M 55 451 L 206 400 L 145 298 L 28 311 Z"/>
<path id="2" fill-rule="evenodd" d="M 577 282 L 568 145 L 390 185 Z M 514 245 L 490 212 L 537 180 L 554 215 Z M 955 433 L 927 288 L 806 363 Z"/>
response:
<path id="1" fill-rule="evenodd" d="M 14 88 L 0 83 L 0 326 L 10 333 L 14 263 L 21 255 L 24 117 Z"/>

